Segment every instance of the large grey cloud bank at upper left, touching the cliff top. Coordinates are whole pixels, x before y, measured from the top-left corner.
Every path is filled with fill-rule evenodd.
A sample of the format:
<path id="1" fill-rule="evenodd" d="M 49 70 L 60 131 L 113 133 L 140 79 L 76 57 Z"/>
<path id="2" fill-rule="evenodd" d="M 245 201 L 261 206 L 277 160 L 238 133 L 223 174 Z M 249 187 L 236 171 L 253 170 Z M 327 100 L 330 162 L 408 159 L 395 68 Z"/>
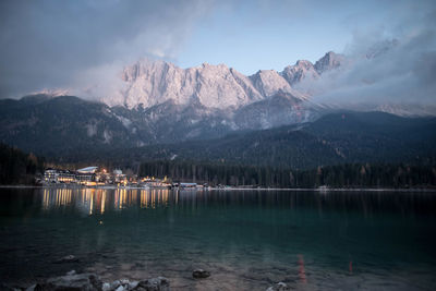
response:
<path id="1" fill-rule="evenodd" d="M 140 57 L 174 58 L 196 20 L 213 4 L 202 0 L 0 1 L 0 97 L 74 87 L 86 77 L 98 83 L 114 66 Z"/>

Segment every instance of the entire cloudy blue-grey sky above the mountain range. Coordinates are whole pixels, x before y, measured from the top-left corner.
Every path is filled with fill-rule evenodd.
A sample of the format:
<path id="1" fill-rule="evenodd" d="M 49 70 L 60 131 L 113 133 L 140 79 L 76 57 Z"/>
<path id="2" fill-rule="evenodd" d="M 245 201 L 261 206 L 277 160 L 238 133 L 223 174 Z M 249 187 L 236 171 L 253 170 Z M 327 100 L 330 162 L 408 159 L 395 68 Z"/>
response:
<path id="1" fill-rule="evenodd" d="M 336 96 L 350 95 L 349 84 L 379 75 L 385 83 L 374 93 L 412 76 L 407 89 L 424 87 L 420 94 L 434 101 L 435 20 L 436 1 L 427 0 L 2 0 L 0 98 L 110 83 L 143 57 L 181 68 L 225 63 L 253 74 L 299 59 L 315 62 L 330 50 L 359 60 L 396 40 L 392 53 L 356 61 L 360 71 L 319 83 L 319 92 L 337 87 Z"/>

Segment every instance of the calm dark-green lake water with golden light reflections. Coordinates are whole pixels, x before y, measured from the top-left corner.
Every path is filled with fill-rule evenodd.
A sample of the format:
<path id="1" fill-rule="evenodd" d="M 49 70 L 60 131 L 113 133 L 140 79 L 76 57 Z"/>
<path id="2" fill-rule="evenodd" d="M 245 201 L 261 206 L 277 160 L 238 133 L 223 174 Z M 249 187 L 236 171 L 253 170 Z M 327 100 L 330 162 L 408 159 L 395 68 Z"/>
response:
<path id="1" fill-rule="evenodd" d="M 436 290 L 436 193 L 0 190 L 0 279 L 173 290 Z M 76 263 L 55 264 L 65 255 Z M 193 280 L 192 270 L 211 277 Z"/>

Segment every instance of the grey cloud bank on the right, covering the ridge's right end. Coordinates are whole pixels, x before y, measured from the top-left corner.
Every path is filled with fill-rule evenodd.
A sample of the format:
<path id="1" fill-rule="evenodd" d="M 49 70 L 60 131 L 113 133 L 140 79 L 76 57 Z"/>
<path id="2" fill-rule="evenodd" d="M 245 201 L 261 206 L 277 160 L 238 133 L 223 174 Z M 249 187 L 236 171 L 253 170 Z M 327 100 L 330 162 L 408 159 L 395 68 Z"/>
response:
<path id="1" fill-rule="evenodd" d="M 355 32 L 344 50 L 348 62 L 341 70 L 302 84 L 311 88 L 313 100 L 338 106 L 436 106 L 436 9 L 433 3 L 423 3 L 398 19 L 391 29 Z"/>

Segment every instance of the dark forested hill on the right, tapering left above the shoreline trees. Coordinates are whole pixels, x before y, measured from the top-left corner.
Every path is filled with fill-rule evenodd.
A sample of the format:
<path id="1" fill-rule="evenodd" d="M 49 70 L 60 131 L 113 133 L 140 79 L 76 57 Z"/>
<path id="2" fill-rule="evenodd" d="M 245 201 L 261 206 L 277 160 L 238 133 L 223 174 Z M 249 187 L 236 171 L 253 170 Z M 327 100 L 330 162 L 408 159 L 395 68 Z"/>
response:
<path id="1" fill-rule="evenodd" d="M 436 119 L 340 112 L 313 123 L 239 132 L 222 138 L 113 151 L 117 159 L 196 160 L 311 169 L 353 162 L 433 162 Z"/>

